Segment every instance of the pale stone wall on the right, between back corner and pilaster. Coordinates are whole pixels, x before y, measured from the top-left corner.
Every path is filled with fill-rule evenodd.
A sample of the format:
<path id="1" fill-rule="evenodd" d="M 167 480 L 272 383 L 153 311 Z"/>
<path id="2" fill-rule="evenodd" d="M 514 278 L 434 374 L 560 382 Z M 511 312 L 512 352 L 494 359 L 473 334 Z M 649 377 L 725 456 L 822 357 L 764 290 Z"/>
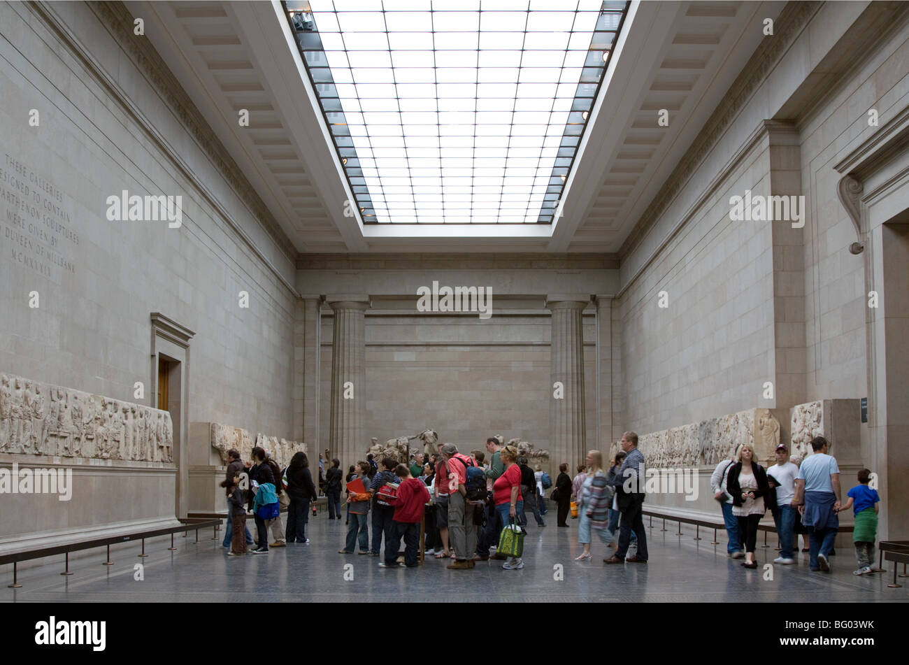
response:
<path id="1" fill-rule="evenodd" d="M 764 404 L 774 366 L 771 232 L 731 221 L 727 202 L 746 188 L 768 193 L 768 173 L 766 146 L 755 146 L 623 293 L 621 429 L 654 432 Z M 681 207 L 671 205 L 667 219 Z"/>

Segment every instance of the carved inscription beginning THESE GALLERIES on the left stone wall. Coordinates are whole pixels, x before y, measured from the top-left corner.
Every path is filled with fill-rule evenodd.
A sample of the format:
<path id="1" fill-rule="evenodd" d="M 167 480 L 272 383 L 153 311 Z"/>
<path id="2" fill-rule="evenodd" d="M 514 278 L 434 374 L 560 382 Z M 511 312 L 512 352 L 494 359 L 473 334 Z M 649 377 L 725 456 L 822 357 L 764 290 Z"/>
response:
<path id="1" fill-rule="evenodd" d="M 63 192 L 11 154 L 0 162 L 0 220 L 5 258 L 60 280 L 75 273 L 75 233 Z"/>

